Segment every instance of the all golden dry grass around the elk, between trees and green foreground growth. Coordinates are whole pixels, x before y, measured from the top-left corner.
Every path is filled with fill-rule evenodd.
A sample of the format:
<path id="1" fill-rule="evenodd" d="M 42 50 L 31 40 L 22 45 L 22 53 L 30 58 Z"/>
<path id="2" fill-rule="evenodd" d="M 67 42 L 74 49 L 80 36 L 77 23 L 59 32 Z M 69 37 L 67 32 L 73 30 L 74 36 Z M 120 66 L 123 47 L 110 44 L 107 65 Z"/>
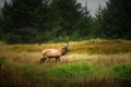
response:
<path id="1" fill-rule="evenodd" d="M 0 57 L 14 63 L 36 64 L 41 58 L 41 50 L 61 47 L 61 44 L 5 45 L 0 42 Z M 127 40 L 93 39 L 70 42 L 69 50 L 67 55 L 61 57 L 62 63 L 76 61 L 90 61 L 93 64 L 131 63 L 131 41 Z M 53 59 L 47 62 L 53 62 Z"/>

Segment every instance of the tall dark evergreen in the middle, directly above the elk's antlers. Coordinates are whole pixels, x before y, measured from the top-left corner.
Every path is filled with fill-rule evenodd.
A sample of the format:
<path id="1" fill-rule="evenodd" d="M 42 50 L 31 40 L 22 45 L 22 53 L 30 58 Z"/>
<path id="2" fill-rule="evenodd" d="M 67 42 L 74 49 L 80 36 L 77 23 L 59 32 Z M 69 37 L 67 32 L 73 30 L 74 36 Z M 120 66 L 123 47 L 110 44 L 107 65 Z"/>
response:
<path id="1" fill-rule="evenodd" d="M 73 26 L 81 18 L 82 7 L 76 0 L 52 0 L 51 3 L 55 27 L 61 27 L 61 32 L 72 35 L 75 30 Z"/>

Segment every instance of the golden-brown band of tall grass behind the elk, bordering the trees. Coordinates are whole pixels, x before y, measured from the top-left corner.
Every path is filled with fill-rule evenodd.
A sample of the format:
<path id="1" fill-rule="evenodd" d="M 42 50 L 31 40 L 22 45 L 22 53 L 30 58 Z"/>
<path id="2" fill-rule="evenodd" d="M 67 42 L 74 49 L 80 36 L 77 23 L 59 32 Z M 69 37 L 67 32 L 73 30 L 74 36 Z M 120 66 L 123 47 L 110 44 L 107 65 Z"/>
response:
<path id="1" fill-rule="evenodd" d="M 0 45 L 1 51 L 14 52 L 40 52 L 47 48 L 61 48 L 61 44 L 43 44 L 43 45 Z M 75 48 L 74 48 L 75 47 Z M 127 40 L 86 40 L 71 41 L 69 44 L 69 53 L 88 53 L 88 54 L 110 54 L 124 53 L 131 51 L 131 41 Z"/>

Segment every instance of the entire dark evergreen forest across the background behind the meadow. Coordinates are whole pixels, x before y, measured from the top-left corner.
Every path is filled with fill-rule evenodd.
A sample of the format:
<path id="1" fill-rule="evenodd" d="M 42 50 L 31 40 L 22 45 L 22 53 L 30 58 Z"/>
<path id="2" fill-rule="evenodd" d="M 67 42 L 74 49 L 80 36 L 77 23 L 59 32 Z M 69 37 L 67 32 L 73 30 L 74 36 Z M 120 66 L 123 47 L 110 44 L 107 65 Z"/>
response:
<path id="1" fill-rule="evenodd" d="M 123 4 L 124 3 L 124 4 Z M 76 0 L 11 0 L 0 9 L 0 40 L 7 44 L 57 42 L 94 38 L 131 39 L 130 0 L 108 0 L 96 16 Z"/>

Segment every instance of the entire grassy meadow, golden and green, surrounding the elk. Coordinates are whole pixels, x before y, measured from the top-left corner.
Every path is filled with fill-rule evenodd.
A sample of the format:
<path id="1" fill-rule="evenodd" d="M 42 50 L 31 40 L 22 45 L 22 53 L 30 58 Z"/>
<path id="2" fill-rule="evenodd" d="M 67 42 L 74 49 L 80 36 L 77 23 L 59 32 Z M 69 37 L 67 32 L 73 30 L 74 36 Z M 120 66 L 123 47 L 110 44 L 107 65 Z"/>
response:
<path id="1" fill-rule="evenodd" d="M 60 62 L 39 64 L 41 50 L 61 47 L 0 41 L 0 87 L 131 87 L 130 40 L 70 41 Z"/>

